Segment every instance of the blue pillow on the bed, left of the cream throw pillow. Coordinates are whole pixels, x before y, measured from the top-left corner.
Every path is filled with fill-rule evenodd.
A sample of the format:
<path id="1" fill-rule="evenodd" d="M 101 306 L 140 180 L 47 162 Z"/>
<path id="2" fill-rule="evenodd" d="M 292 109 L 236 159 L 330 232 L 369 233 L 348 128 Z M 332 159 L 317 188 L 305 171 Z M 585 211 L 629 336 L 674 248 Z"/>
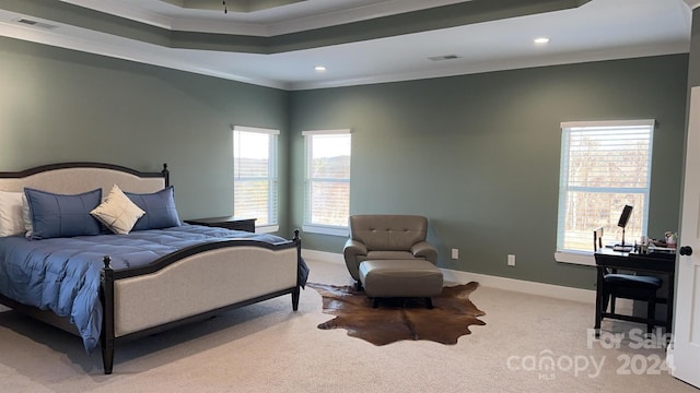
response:
<path id="1" fill-rule="evenodd" d="M 102 189 L 67 195 L 24 189 L 32 217 L 32 239 L 100 235 L 90 212 L 102 202 Z"/>

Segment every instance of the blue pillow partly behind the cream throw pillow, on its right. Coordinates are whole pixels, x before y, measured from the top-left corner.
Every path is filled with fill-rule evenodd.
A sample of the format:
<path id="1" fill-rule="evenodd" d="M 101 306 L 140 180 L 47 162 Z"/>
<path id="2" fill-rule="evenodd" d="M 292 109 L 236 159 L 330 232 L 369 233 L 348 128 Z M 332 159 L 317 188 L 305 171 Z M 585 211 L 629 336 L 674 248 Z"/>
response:
<path id="1" fill-rule="evenodd" d="M 145 212 L 145 214 L 133 224 L 131 231 L 180 226 L 177 209 L 175 209 L 173 186 L 154 193 L 132 193 L 126 191 L 124 193 L 131 202 Z"/>

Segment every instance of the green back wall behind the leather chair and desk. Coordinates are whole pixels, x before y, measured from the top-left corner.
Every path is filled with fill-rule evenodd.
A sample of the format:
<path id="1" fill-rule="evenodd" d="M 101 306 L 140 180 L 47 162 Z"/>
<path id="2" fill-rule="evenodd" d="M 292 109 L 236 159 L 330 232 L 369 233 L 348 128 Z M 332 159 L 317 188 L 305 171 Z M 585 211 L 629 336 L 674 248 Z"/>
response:
<path id="1" fill-rule="evenodd" d="M 593 288 L 594 269 L 553 260 L 560 123 L 656 119 L 649 234 L 677 230 L 687 64 L 678 55 L 293 92 L 292 167 L 303 167 L 302 131 L 351 128 L 352 214 L 427 216 L 442 267 Z M 302 183 L 295 169 L 296 226 Z M 311 249 L 343 242 L 304 234 Z"/>

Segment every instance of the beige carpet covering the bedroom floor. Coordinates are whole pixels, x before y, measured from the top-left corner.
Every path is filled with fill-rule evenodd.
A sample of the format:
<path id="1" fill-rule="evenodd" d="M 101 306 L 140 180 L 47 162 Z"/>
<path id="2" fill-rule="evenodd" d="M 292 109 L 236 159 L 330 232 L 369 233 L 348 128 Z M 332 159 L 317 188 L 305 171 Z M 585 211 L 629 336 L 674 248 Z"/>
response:
<path id="1" fill-rule="evenodd" d="M 350 284 L 345 266 L 308 263 L 311 281 Z M 456 345 L 377 347 L 316 329 L 328 315 L 320 296 L 306 289 L 295 313 L 285 296 L 129 343 L 117 348 L 112 376 L 79 338 L 4 312 L 0 392 L 697 392 L 665 371 L 640 369 L 663 359 L 663 349 L 633 349 L 633 340 L 619 348 L 588 345 L 592 305 L 485 286 L 471 299 L 487 325 L 472 326 Z M 604 322 L 622 334 L 634 327 Z M 637 367 L 626 368 L 625 359 Z"/>

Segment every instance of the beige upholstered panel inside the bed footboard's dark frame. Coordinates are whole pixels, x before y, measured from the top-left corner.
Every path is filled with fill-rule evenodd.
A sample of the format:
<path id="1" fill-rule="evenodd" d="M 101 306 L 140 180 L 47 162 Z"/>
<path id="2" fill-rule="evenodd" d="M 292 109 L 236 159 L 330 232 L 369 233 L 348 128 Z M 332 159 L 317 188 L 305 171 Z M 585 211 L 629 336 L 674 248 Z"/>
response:
<path id="1" fill-rule="evenodd" d="M 296 248 L 228 247 L 115 281 L 115 337 L 296 286 Z"/>

